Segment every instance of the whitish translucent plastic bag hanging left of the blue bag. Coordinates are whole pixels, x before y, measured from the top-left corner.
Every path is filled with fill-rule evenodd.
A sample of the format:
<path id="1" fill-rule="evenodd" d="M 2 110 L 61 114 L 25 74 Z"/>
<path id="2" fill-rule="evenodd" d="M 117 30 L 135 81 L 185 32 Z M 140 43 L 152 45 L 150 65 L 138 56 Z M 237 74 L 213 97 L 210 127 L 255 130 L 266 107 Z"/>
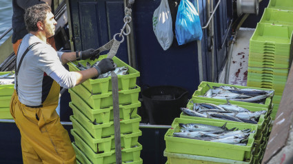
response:
<path id="1" fill-rule="evenodd" d="M 163 50 L 170 48 L 174 34 L 168 0 L 161 0 L 160 6 L 154 10 L 152 29 Z"/>

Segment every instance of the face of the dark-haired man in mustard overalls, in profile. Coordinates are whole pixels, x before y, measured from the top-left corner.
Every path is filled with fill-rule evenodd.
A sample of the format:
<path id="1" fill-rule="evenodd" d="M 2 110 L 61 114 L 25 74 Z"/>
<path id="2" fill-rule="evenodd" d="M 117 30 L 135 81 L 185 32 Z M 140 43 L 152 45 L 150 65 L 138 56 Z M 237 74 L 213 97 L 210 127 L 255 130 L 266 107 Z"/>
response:
<path id="1" fill-rule="evenodd" d="M 47 17 L 43 22 L 44 31 L 46 33 L 46 38 L 50 38 L 55 34 L 55 25 L 57 25 L 57 21 L 55 21 L 54 14 L 52 14 L 52 12 L 48 12 L 46 16 Z"/>

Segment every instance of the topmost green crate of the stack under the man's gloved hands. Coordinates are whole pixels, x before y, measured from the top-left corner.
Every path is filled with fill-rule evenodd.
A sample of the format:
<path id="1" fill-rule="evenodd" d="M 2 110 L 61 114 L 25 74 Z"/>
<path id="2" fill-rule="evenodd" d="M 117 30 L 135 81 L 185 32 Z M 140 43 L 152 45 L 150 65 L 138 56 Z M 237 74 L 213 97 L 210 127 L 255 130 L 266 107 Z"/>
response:
<path id="1" fill-rule="evenodd" d="M 101 59 L 105 59 L 107 55 L 101 55 L 99 59 L 94 61 L 88 59 L 84 61 L 75 61 L 73 62 L 77 65 L 77 62 L 86 65 L 87 62 L 92 65 L 96 61 L 100 61 Z M 137 77 L 139 77 L 139 71 L 135 70 L 134 68 L 130 67 L 130 65 L 124 63 L 117 57 L 112 58 L 114 63 L 117 64 L 118 67 L 128 67 L 128 73 L 125 75 L 117 75 L 118 76 L 118 88 L 119 90 L 130 90 L 136 86 Z M 73 64 L 68 63 L 68 67 L 70 71 L 79 71 L 79 69 Z M 112 90 L 112 80 L 111 77 L 103 78 L 103 79 L 88 79 L 84 81 L 81 85 L 83 85 L 88 91 L 94 94 L 105 94 Z"/>

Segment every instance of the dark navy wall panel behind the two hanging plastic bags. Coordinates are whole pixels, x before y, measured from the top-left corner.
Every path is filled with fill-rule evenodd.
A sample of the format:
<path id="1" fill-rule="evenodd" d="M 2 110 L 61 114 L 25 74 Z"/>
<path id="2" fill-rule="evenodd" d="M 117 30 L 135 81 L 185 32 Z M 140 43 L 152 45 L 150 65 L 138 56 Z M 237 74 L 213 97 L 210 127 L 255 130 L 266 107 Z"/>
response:
<path id="1" fill-rule="evenodd" d="M 161 48 L 152 30 L 152 16 L 160 2 L 135 1 L 134 4 L 137 65 L 141 72 L 139 85 L 176 85 L 185 88 L 191 95 L 199 85 L 197 43 L 193 41 L 179 46 L 174 37 L 168 50 Z M 173 25 L 178 8 L 176 3 L 179 4 L 179 1 L 169 1 Z"/>

